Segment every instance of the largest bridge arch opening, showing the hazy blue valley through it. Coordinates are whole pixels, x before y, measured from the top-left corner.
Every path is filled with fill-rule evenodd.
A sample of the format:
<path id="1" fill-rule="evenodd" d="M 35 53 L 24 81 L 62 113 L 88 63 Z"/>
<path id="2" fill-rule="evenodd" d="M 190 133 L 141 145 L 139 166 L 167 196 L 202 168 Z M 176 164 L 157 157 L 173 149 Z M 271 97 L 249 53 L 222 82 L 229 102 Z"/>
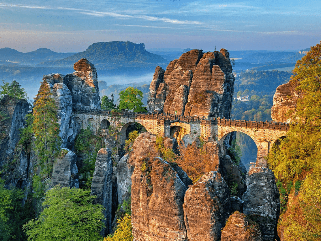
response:
<path id="1" fill-rule="evenodd" d="M 230 138 L 233 139 L 230 141 L 227 139 Z M 226 143 L 229 141 L 230 150 L 229 152 L 236 152 L 240 154 L 240 160 L 245 165 L 247 171 L 249 170 L 250 166 L 254 165 L 253 163 L 256 163 L 257 159 L 257 144 L 256 139 L 249 136 L 247 133 L 240 132 L 240 131 L 232 131 L 227 134 L 225 134 L 220 139 L 220 144 Z"/>

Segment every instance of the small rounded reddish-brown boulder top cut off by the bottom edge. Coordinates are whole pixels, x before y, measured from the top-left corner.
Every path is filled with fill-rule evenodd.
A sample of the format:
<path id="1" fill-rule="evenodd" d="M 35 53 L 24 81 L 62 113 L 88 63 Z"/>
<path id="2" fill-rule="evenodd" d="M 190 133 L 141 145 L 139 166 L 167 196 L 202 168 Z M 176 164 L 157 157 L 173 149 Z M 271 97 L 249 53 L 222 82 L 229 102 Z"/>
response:
<path id="1" fill-rule="evenodd" d="M 246 218 L 243 213 L 229 217 L 222 229 L 221 241 L 263 241 L 258 225 Z"/>

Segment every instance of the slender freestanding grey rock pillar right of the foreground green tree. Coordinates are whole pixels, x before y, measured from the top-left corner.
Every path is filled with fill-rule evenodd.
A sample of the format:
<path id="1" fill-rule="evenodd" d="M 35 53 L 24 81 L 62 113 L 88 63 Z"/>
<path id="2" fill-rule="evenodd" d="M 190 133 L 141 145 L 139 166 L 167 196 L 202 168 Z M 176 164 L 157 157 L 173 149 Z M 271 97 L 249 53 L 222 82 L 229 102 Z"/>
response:
<path id="1" fill-rule="evenodd" d="M 103 228 L 100 233 L 104 237 L 111 233 L 112 175 L 113 161 L 111 159 L 111 150 L 108 148 L 101 148 L 96 158 L 95 171 L 91 183 L 91 195 L 97 196 L 93 201 L 94 204 L 99 203 L 105 208 L 103 213 L 106 220 L 103 222 L 105 223 L 106 228 Z"/>

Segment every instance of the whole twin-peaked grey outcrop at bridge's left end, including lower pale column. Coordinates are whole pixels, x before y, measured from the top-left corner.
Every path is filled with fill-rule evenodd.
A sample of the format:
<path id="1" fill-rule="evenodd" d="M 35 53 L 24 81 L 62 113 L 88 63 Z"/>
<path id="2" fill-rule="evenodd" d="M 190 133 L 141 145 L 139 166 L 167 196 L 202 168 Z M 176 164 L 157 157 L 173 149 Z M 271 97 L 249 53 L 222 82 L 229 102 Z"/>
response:
<path id="1" fill-rule="evenodd" d="M 61 147 L 72 148 L 81 125 L 72 115 L 73 108 L 101 109 L 96 68 L 82 58 L 74 64 L 73 74 L 44 76 L 58 106 L 57 119 Z"/>

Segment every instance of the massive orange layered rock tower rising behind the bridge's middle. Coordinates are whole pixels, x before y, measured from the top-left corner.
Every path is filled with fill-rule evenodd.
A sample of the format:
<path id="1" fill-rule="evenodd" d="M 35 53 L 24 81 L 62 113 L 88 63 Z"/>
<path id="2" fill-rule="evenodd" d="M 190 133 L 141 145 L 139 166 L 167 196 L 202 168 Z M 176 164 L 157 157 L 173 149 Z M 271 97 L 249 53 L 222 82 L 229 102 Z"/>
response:
<path id="1" fill-rule="evenodd" d="M 226 49 L 207 53 L 193 49 L 171 61 L 166 71 L 156 67 L 148 106 L 166 114 L 230 118 L 233 85 Z"/>

